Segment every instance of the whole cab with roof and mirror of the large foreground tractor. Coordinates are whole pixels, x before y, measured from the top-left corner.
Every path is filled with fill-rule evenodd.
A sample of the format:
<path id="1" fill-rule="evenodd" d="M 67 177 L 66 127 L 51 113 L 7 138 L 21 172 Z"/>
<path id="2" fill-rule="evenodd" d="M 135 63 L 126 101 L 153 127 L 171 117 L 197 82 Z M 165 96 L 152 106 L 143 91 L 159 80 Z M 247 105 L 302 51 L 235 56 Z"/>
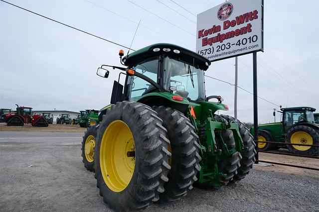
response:
<path id="1" fill-rule="evenodd" d="M 121 63 L 127 68 L 102 65 L 97 71 L 105 78 L 109 75 L 105 67 L 126 71 L 125 86 L 114 82 L 111 104 L 138 101 L 152 106 L 173 101 L 179 105 L 178 110 L 185 111 L 189 102 L 206 100 L 204 71 L 210 65 L 208 59 L 166 43 L 145 47 L 122 58 L 123 55 L 120 54 Z"/>

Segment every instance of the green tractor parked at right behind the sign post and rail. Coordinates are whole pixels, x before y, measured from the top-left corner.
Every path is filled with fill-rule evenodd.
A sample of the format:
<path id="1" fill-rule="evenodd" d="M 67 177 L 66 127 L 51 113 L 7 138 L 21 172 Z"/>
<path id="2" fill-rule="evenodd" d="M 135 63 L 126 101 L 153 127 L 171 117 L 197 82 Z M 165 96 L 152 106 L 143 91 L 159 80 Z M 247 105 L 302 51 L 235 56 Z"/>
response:
<path id="1" fill-rule="evenodd" d="M 295 154 L 318 155 L 318 147 L 315 146 L 285 145 L 285 143 L 318 145 L 319 125 L 315 124 L 313 113 L 315 110 L 308 106 L 277 110 L 282 113 L 282 121 L 258 125 L 258 141 L 275 141 L 283 144 L 258 143 L 259 150 L 266 151 L 287 146 L 290 152 Z"/>

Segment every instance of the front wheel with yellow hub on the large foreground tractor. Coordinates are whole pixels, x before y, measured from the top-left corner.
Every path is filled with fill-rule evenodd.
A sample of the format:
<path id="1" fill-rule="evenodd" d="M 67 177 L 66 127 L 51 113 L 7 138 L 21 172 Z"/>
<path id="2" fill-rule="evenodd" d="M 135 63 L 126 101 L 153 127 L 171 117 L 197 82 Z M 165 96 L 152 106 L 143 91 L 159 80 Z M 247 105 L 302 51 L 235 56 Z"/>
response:
<path id="1" fill-rule="evenodd" d="M 90 126 L 82 140 L 82 162 L 84 167 L 91 172 L 94 172 L 94 147 L 98 129 L 99 125 Z"/>

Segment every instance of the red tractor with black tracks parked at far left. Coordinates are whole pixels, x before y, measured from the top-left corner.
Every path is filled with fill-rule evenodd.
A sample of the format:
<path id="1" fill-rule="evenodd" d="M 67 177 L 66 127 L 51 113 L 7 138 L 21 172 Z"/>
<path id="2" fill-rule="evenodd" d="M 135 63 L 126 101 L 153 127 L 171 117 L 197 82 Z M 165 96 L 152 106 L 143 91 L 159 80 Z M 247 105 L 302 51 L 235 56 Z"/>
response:
<path id="1" fill-rule="evenodd" d="M 16 105 L 16 111 L 2 114 L 3 122 L 7 126 L 23 126 L 31 123 L 32 126 L 48 126 L 48 122 L 42 115 L 32 115 L 32 107 Z"/>

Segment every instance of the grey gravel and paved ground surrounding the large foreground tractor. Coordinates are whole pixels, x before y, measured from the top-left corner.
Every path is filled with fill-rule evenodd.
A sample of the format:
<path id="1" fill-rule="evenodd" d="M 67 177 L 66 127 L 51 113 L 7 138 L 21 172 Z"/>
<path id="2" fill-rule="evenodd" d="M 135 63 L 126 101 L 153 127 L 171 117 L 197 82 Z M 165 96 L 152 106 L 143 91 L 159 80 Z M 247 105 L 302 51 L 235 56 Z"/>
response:
<path id="1" fill-rule="evenodd" d="M 80 132 L 0 132 L 0 211 L 110 211 L 81 158 Z M 289 156 L 262 155 L 263 159 Z M 280 158 L 279 158 L 280 157 Z M 290 160 L 291 157 L 290 157 Z M 298 159 L 318 167 L 316 159 Z M 293 160 L 292 160 L 293 161 Z M 150 212 L 319 211 L 317 171 L 255 166 L 236 185 L 194 188 Z"/>

